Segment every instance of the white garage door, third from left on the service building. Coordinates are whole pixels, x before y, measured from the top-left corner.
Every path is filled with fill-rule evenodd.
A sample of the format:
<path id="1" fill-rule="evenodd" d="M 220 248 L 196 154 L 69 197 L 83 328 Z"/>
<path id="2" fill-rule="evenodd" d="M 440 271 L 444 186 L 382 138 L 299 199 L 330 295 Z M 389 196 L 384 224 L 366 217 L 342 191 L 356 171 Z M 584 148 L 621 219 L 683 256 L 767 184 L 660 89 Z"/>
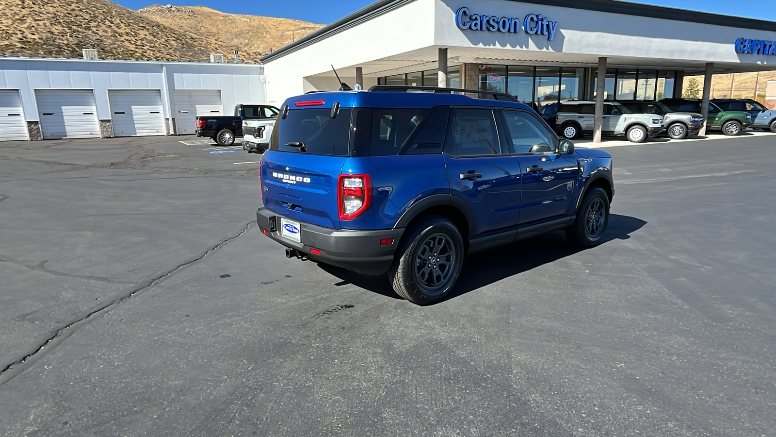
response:
<path id="1" fill-rule="evenodd" d="M 108 91 L 113 136 L 143 137 L 165 135 L 165 114 L 161 107 L 161 91 Z"/>

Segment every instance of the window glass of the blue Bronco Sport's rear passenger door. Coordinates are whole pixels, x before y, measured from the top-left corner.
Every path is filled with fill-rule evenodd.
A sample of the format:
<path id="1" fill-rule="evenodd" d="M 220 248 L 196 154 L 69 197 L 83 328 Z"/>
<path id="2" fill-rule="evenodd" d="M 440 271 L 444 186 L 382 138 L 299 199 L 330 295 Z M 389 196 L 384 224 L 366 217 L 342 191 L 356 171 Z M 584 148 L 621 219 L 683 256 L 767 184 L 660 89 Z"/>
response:
<path id="1" fill-rule="evenodd" d="M 445 153 L 449 156 L 477 156 L 501 152 L 493 110 L 459 108 L 453 112 Z"/>

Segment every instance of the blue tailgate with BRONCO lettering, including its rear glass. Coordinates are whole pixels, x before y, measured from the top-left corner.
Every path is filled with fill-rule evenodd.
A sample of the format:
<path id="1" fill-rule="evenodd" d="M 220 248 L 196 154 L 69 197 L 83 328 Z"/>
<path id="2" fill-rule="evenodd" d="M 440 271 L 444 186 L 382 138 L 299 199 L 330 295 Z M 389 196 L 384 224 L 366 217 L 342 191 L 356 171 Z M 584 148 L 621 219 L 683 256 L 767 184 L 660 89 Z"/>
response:
<path id="1" fill-rule="evenodd" d="M 340 229 L 338 177 L 350 145 L 352 109 L 292 109 L 262 156 L 267 209 L 299 222 Z"/>

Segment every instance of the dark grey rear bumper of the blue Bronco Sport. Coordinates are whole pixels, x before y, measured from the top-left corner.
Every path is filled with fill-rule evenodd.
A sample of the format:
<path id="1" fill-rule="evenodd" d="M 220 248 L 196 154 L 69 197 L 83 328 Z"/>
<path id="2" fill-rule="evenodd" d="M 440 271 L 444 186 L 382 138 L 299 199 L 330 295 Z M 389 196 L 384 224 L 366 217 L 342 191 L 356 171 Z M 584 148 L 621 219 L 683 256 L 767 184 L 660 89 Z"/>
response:
<path id="1" fill-rule="evenodd" d="M 296 243 L 280 236 L 277 229 L 281 217 L 283 216 L 263 206 L 256 212 L 258 227 L 269 238 L 298 250 L 310 260 L 344 267 L 360 274 L 386 273 L 393 264 L 393 254 L 404 233 L 404 228 L 375 231 L 337 230 L 300 222 L 302 243 Z M 381 246 L 380 240 L 388 238 L 393 238 L 393 244 Z M 310 253 L 311 248 L 320 250 L 320 255 Z"/>

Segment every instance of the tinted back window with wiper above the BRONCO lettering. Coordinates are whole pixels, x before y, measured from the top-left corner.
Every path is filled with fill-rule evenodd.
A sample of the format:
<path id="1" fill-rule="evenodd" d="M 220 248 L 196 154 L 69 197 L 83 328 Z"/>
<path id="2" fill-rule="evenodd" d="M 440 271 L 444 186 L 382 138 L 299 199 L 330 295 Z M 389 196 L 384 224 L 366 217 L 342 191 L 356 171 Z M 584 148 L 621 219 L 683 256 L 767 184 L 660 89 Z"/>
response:
<path id="1" fill-rule="evenodd" d="M 336 118 L 331 109 L 289 110 L 278 117 L 270 150 L 308 155 L 348 156 L 352 109 L 341 108 Z"/>

